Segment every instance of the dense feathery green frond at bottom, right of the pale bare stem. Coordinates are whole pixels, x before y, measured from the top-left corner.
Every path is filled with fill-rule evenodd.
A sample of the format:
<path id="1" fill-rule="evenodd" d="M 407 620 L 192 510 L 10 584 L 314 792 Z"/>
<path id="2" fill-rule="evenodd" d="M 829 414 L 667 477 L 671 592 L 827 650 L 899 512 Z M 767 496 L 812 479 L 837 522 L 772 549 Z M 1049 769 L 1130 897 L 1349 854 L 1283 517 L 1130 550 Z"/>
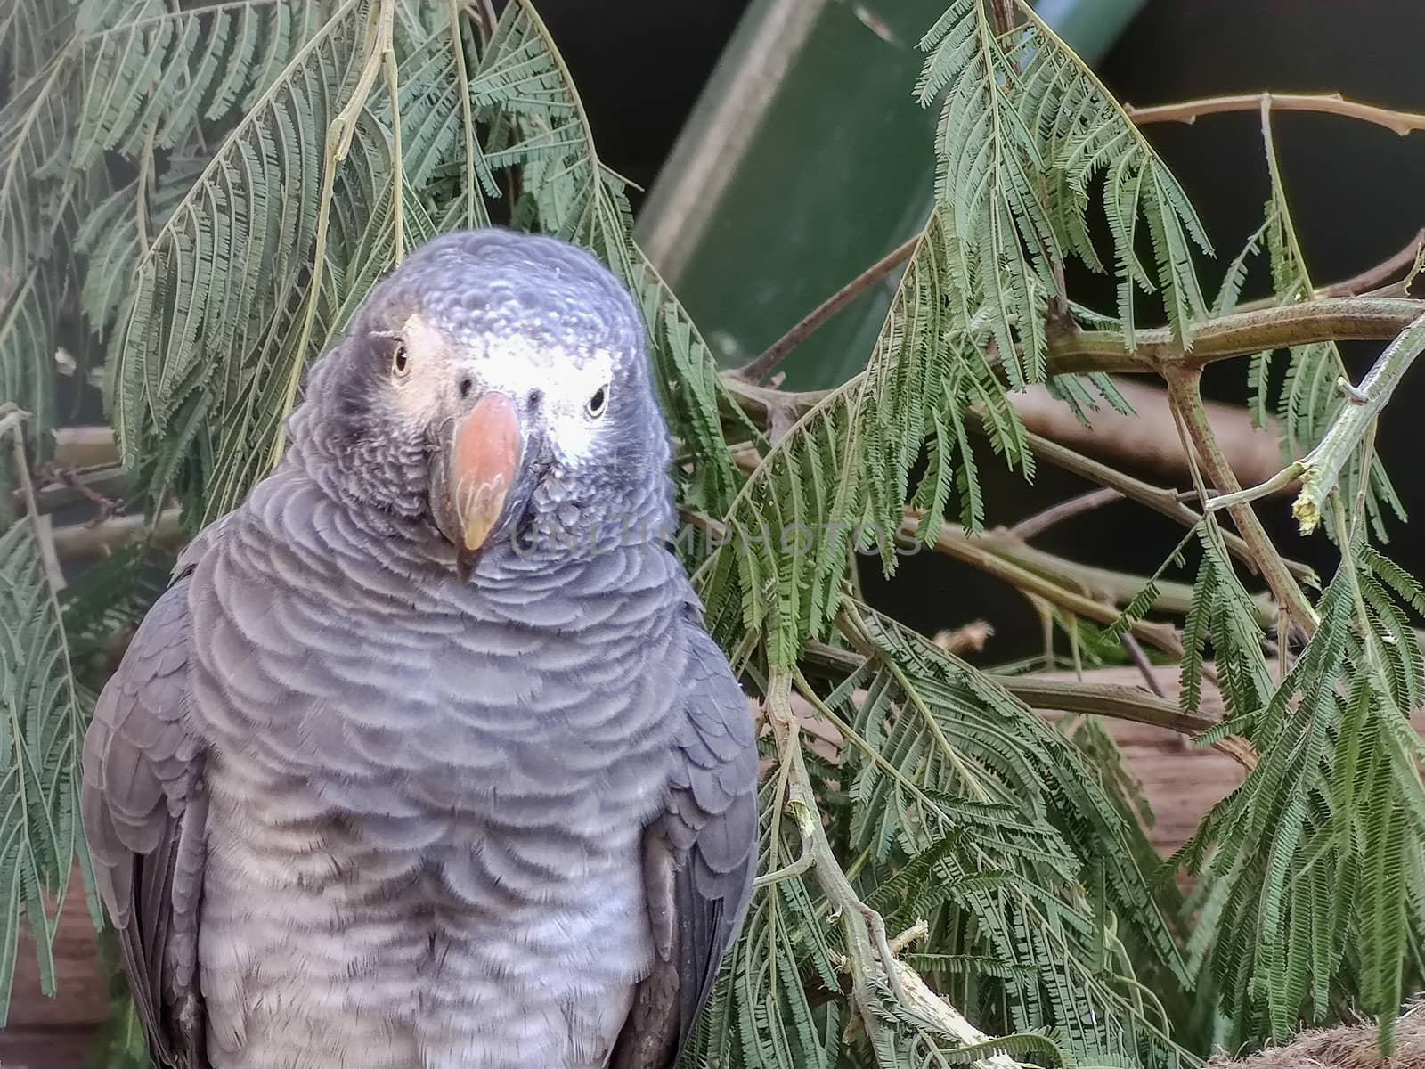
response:
<path id="1" fill-rule="evenodd" d="M 841 784 L 828 798 L 842 801 L 828 801 L 824 814 L 844 837 L 841 849 L 869 861 L 856 879 L 861 898 L 891 931 L 926 919 L 938 954 L 982 964 L 969 969 L 973 982 L 933 961 L 926 975 L 985 1028 L 1053 1029 L 1063 1050 L 1090 1062 L 1196 1065 L 1167 1022 L 1136 1005 L 1139 983 L 1171 1001 L 1186 974 L 1127 858 L 1121 818 L 1073 744 L 928 640 L 858 607 L 844 620 L 869 656 L 814 661 L 807 693 L 844 740 L 826 768 Z M 768 849 L 767 868 L 798 851 L 771 830 Z M 778 901 L 768 889 L 758 901 L 798 931 L 822 916 L 798 905 L 804 892 Z M 1094 949 L 1106 925 L 1121 939 L 1112 961 Z M 765 959 L 767 948 L 748 948 L 754 964 Z M 918 1025 L 911 1046 L 945 1048 L 945 1036 Z"/>

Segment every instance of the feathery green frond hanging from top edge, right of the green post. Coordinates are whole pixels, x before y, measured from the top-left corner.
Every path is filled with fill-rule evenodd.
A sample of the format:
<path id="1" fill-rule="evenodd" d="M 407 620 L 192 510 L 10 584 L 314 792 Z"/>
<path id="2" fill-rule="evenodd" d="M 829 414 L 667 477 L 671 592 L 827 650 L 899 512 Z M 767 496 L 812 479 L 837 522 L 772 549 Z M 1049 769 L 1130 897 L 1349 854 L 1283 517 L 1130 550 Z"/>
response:
<path id="1" fill-rule="evenodd" d="M 921 41 L 929 58 L 916 94 L 929 105 L 945 93 L 936 190 L 962 318 L 989 321 L 1010 382 L 1043 378 L 1040 306 L 1066 296 L 1056 268 L 1072 254 L 1102 269 L 1086 217 L 1103 174 L 1129 348 L 1136 288 L 1161 289 L 1168 322 L 1191 345 L 1204 306 L 1190 245 L 1211 251 L 1197 214 L 1092 71 L 1027 4 L 1016 7 L 1027 23 L 1000 34 L 979 0 L 956 0 Z M 1139 258 L 1140 218 L 1156 282 Z"/>

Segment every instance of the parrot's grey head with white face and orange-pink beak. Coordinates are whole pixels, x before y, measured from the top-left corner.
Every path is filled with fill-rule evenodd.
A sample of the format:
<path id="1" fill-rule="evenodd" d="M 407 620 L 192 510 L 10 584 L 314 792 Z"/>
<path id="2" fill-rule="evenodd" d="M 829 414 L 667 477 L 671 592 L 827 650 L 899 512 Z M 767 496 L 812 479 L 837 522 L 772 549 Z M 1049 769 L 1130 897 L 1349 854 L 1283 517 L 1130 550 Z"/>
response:
<path id="1" fill-rule="evenodd" d="M 304 408 L 294 443 L 336 493 L 428 525 L 466 574 L 496 543 L 596 544 L 590 525 L 668 507 L 643 321 L 556 238 L 459 231 L 412 252 L 314 365 Z"/>

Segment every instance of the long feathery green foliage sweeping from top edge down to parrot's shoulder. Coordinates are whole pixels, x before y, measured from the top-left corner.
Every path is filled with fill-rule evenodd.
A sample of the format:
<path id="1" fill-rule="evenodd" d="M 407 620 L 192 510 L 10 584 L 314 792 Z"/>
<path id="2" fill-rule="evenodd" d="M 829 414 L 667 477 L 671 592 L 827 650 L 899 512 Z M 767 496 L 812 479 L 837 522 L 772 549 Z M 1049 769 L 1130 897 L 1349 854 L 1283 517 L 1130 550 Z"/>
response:
<path id="1" fill-rule="evenodd" d="M 1110 174 L 1104 208 L 1129 344 L 1131 288 L 1153 286 L 1134 249 L 1140 217 L 1159 249 L 1159 281 L 1184 342 L 1190 321 L 1203 314 L 1186 235 L 1204 247 L 1206 237 L 1187 198 L 1047 27 L 1032 17 L 1002 37 L 978 0 L 956 0 L 922 46 L 929 58 L 916 87 L 921 103 L 948 94 L 936 140 L 936 208 L 866 371 L 762 458 L 722 517 L 727 543 L 701 574 L 711 604 L 731 606 L 735 584 L 741 623 L 725 611 L 724 627 L 767 627 L 779 664 L 795 660 L 808 637 L 826 633 L 849 559 L 848 533 L 874 530 L 891 570 L 908 506 L 923 513 L 919 533 L 928 544 L 952 503 L 968 529 L 980 527 L 972 408 L 992 450 L 1033 473 L 1000 372 L 1009 383 L 1043 378 L 1047 306 L 1063 298 L 1056 269 L 1066 249 L 1097 264 L 1083 214 L 1099 171 Z M 1096 406 L 1094 393 L 1126 408 L 1103 376 L 1057 376 L 1053 389 L 1080 416 Z M 912 489 L 911 470 L 922 455 L 928 468 Z"/>

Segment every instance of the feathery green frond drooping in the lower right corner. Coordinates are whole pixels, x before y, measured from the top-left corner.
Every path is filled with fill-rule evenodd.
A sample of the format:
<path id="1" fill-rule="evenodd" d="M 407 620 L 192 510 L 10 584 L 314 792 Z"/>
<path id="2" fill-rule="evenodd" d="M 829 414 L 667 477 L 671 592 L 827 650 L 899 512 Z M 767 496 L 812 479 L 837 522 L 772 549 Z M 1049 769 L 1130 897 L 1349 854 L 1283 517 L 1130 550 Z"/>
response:
<path id="1" fill-rule="evenodd" d="M 1342 983 L 1388 1031 L 1405 975 L 1419 979 L 1406 951 L 1425 929 L 1406 914 L 1402 867 L 1425 835 L 1425 790 L 1401 698 L 1418 698 L 1421 659 L 1401 644 L 1408 619 L 1379 576 L 1402 579 L 1351 544 L 1301 659 L 1233 718 L 1260 765 L 1183 849 L 1196 868 L 1214 847 L 1201 865 L 1217 902 L 1206 961 L 1240 1039 L 1325 1019 Z M 1216 631 L 1214 643 L 1228 644 Z"/>

